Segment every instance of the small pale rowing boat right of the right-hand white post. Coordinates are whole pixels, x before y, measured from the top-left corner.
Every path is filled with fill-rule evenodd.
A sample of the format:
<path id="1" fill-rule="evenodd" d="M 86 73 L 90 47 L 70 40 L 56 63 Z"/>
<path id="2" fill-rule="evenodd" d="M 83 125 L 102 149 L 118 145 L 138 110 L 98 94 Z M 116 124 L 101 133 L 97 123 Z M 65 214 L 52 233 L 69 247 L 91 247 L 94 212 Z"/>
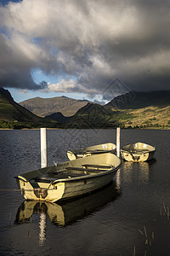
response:
<path id="1" fill-rule="evenodd" d="M 156 152 L 156 147 L 145 143 L 128 144 L 121 149 L 122 159 L 133 162 L 151 160 Z"/>

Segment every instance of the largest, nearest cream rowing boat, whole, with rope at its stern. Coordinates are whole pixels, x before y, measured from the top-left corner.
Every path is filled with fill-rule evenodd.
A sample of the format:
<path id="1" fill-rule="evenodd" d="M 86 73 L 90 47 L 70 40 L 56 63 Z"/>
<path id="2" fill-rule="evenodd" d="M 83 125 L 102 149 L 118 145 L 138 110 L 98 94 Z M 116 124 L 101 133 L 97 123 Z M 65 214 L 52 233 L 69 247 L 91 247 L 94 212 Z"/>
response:
<path id="1" fill-rule="evenodd" d="M 63 201 L 104 187 L 120 166 L 115 154 L 96 154 L 26 172 L 16 180 L 26 200 Z"/>

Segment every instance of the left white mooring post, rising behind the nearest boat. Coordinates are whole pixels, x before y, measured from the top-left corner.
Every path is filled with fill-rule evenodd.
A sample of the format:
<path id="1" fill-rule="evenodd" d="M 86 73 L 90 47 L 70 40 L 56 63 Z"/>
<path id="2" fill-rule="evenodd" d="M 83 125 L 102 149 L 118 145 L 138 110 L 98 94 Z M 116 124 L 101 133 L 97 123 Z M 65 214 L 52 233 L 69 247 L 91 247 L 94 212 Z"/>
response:
<path id="1" fill-rule="evenodd" d="M 41 168 L 48 166 L 48 154 L 47 154 L 47 128 L 41 128 Z"/>

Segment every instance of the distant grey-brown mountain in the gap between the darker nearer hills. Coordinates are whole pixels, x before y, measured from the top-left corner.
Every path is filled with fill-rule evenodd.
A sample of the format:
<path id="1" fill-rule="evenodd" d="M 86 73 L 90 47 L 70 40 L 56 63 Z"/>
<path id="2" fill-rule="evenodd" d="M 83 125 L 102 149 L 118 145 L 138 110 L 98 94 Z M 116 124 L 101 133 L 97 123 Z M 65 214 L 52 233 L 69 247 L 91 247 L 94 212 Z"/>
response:
<path id="1" fill-rule="evenodd" d="M 20 105 L 38 116 L 45 117 L 57 112 L 61 112 L 65 116 L 71 116 L 87 103 L 88 101 L 86 100 L 75 100 L 65 96 L 58 96 L 53 98 L 35 97 L 20 102 Z"/>

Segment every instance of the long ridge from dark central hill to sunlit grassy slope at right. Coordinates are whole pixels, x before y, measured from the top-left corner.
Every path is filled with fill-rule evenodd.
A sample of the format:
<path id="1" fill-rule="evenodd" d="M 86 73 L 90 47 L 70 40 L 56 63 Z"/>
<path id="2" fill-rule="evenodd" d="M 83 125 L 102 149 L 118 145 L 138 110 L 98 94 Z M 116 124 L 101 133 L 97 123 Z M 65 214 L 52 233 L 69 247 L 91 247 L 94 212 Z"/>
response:
<path id="1" fill-rule="evenodd" d="M 117 96 L 105 106 L 88 103 L 71 117 L 49 118 L 70 128 L 170 127 L 170 91 L 135 92 Z"/>

